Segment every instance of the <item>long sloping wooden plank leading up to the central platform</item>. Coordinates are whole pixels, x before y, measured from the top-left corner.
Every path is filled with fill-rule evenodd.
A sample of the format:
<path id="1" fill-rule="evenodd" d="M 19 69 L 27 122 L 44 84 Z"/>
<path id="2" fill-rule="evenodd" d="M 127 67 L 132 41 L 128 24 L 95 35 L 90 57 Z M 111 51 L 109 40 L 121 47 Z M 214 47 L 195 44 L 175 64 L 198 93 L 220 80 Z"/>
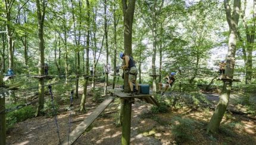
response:
<path id="1" fill-rule="evenodd" d="M 80 123 L 71 133 L 69 140 L 66 138 L 62 144 L 73 144 L 85 130 L 96 120 L 96 118 L 104 111 L 105 108 L 114 100 L 114 96 L 110 96 L 108 99 L 105 99 L 99 106 L 90 114 L 85 120 Z"/>

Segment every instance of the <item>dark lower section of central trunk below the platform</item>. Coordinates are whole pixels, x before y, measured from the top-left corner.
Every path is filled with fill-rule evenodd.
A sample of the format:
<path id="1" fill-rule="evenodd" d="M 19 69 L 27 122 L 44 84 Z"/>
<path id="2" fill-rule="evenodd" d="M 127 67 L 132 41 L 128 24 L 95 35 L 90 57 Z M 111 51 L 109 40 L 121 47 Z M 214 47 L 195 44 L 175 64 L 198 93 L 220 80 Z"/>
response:
<path id="1" fill-rule="evenodd" d="M 121 144 L 127 145 L 130 144 L 130 122 L 132 115 L 132 102 L 130 99 L 124 99 L 123 102 L 124 106 L 121 110 L 121 112 L 123 112 Z"/>

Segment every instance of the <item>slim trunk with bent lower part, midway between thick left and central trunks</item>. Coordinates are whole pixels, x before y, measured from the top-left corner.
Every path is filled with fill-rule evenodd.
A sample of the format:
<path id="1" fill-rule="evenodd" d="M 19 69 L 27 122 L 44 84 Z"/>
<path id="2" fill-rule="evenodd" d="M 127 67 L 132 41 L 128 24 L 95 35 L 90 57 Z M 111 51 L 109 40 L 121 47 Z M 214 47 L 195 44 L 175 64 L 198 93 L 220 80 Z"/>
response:
<path id="1" fill-rule="evenodd" d="M 86 36 L 86 62 L 85 62 L 85 73 L 86 76 L 89 75 L 89 38 L 90 38 L 90 5 L 89 0 L 86 0 L 86 9 L 87 9 L 87 36 Z M 85 111 L 85 102 L 86 102 L 86 95 L 87 95 L 87 85 L 88 85 L 88 78 L 85 78 L 85 83 L 83 84 L 83 96 L 81 99 L 81 104 L 79 111 Z"/>

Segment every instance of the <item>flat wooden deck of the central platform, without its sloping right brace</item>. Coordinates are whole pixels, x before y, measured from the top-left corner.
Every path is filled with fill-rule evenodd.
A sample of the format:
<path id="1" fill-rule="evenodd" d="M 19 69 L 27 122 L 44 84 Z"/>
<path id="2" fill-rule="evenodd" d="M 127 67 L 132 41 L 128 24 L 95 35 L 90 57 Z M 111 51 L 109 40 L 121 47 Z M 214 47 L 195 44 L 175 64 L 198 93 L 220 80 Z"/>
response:
<path id="1" fill-rule="evenodd" d="M 134 96 L 130 96 L 129 93 L 122 92 L 123 89 L 115 88 L 115 89 L 108 89 L 108 92 L 111 92 L 115 96 L 118 96 L 120 98 L 146 98 L 149 96 L 152 96 L 151 94 L 139 94 Z"/>

